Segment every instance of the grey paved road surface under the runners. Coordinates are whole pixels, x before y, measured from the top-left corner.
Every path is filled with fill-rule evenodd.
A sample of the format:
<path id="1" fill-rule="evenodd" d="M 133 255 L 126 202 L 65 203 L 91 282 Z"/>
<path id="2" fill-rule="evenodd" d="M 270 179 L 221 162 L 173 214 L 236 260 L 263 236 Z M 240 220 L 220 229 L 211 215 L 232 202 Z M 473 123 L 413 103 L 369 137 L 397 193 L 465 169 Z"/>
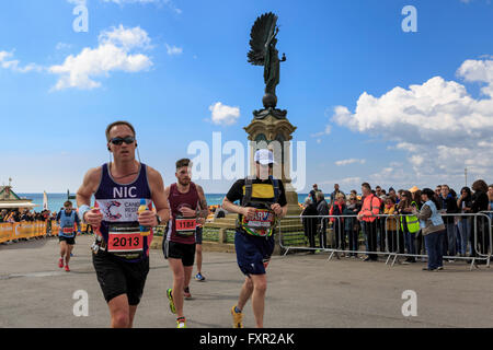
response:
<path id="1" fill-rule="evenodd" d="M 0 327 L 107 327 L 106 303 L 96 281 L 89 246 L 79 236 L 71 272 L 57 267 L 58 240 L 0 245 Z M 493 269 L 470 271 L 465 262 L 438 272 L 422 262 L 395 265 L 359 259 L 326 260 L 326 254 L 273 257 L 268 267 L 265 326 L 284 327 L 492 327 Z M 160 249 L 151 269 L 135 327 L 175 327 L 164 296 L 172 276 Z M 243 277 L 231 253 L 205 252 L 206 282 L 191 282 L 185 301 L 188 327 L 228 328 Z M 195 272 L 195 271 L 194 271 Z M 89 295 L 89 316 L 76 317 L 72 295 Z M 417 296 L 417 316 L 405 317 L 405 290 Z M 251 304 L 245 327 L 253 327 Z"/>

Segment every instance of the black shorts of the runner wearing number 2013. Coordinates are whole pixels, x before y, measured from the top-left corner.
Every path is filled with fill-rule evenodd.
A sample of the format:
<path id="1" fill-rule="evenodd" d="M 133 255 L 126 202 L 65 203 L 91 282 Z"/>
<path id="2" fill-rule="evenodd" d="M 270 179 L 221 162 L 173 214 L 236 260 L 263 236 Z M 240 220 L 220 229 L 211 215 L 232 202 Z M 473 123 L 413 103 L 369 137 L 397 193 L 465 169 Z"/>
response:
<path id="1" fill-rule="evenodd" d="M 106 303 L 115 296 L 127 294 L 129 305 L 139 304 L 149 273 L 149 257 L 128 262 L 107 252 L 99 250 L 92 255 L 92 262 Z"/>

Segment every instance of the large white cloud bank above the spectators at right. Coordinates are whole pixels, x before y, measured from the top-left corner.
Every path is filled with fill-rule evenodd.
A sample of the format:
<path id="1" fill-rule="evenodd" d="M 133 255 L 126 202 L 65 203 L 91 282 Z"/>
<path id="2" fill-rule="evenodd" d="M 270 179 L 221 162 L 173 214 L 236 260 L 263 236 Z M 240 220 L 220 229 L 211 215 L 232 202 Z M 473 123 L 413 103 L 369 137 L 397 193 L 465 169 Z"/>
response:
<path id="1" fill-rule="evenodd" d="M 467 82 L 482 83 L 486 98 L 473 98 L 465 85 L 434 77 L 409 89 L 397 86 L 380 97 L 364 92 L 352 113 L 333 109 L 332 121 L 353 131 L 393 141 L 409 154 L 420 176 L 492 174 L 493 60 L 467 60 L 457 70 Z M 469 171 L 469 166 L 468 166 Z"/>

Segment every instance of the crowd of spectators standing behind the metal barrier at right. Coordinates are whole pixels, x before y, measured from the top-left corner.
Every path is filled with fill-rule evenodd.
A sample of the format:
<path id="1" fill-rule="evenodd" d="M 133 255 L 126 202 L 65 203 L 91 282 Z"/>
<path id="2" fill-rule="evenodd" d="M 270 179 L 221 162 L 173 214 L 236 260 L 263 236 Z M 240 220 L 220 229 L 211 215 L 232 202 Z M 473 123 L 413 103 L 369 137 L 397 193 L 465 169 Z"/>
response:
<path id="1" fill-rule="evenodd" d="M 334 248 L 345 250 L 335 253 L 337 258 L 356 258 L 362 250 L 365 261 L 374 261 L 378 259 L 378 252 L 395 253 L 405 256 L 399 262 L 413 264 L 417 255 L 427 254 L 429 259 L 429 253 L 439 244 L 437 252 L 454 262 L 457 257 L 491 253 L 490 221 L 485 215 L 474 220 L 471 214 L 490 211 L 486 215 L 493 222 L 492 207 L 493 184 L 486 185 L 482 179 L 475 180 L 471 188 L 462 187 L 459 192 L 448 185 L 438 185 L 434 190 L 414 186 L 397 191 L 390 187 L 386 191 L 380 186 L 371 189 L 364 183 L 360 196 L 355 189 L 346 195 L 335 184 L 328 200 L 313 185 L 305 200 L 301 220 L 311 254 L 317 248 Z M 431 234 L 433 232 L 440 234 Z M 437 242 L 433 241 L 435 238 Z M 364 249 L 359 249 L 360 241 Z M 436 268 L 428 266 L 427 269 Z"/>

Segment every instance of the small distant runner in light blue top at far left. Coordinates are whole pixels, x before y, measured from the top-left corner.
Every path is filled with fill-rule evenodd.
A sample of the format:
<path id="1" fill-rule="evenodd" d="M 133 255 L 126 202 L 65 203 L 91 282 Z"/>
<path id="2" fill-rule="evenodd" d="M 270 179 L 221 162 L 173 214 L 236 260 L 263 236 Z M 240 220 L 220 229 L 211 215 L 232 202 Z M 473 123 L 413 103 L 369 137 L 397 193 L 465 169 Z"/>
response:
<path id="1" fill-rule="evenodd" d="M 65 265 L 65 270 L 69 272 L 70 268 L 68 264 L 70 261 L 70 254 L 72 253 L 73 245 L 76 244 L 76 223 L 78 232 L 80 233 L 79 215 L 72 209 L 72 202 L 70 200 L 67 200 L 64 203 L 64 210 L 58 212 L 57 222 L 60 226 L 58 233 L 58 241 L 60 242 L 60 258 L 58 260 L 58 267 L 61 269 Z"/>

